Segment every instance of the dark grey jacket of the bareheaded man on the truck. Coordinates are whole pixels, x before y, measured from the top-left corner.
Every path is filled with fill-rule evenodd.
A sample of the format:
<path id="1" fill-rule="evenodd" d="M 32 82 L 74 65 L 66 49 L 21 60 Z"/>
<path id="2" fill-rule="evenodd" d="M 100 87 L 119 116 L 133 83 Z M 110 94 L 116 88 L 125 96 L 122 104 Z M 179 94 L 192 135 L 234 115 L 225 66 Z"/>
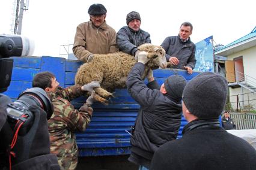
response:
<path id="1" fill-rule="evenodd" d="M 190 38 L 187 42 L 182 42 L 180 36 L 171 36 L 165 38 L 161 44 L 163 49 L 166 51 L 166 60 L 169 62 L 171 56 L 177 57 L 180 61 L 175 68 L 183 69 L 183 66 L 189 66 L 190 68 L 195 68 L 195 44 L 190 41 Z"/>

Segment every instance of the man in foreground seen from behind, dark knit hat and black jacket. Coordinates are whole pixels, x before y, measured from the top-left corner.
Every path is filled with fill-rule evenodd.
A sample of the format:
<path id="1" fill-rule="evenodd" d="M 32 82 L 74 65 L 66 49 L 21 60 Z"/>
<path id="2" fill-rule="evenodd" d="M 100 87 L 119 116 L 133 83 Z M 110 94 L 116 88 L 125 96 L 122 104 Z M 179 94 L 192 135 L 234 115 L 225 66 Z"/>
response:
<path id="1" fill-rule="evenodd" d="M 182 110 L 189 122 L 183 137 L 162 145 L 150 169 L 255 169 L 255 149 L 220 126 L 227 93 L 227 80 L 213 72 L 189 81 L 183 91 Z"/>

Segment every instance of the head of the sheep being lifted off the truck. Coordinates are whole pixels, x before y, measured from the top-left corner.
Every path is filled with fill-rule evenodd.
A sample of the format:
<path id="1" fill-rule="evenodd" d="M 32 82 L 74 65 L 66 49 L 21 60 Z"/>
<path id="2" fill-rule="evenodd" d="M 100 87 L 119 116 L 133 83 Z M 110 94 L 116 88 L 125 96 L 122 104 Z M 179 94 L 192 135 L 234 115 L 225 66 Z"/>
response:
<path id="1" fill-rule="evenodd" d="M 166 68 L 167 62 L 165 58 L 165 50 L 157 45 L 142 44 L 139 47 L 140 51 L 147 51 L 148 58 L 150 59 L 147 63 L 151 69 Z"/>

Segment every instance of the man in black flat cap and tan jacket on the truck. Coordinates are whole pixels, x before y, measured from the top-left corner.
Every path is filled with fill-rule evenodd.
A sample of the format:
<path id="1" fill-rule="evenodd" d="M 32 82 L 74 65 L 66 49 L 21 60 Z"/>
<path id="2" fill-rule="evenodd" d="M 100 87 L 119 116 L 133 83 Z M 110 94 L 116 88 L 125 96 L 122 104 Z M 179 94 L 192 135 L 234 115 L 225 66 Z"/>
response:
<path id="1" fill-rule="evenodd" d="M 91 62 L 94 54 L 108 54 L 118 51 L 117 34 L 106 24 L 107 10 L 102 4 L 93 4 L 88 9 L 90 21 L 78 25 L 73 53 L 82 62 Z"/>

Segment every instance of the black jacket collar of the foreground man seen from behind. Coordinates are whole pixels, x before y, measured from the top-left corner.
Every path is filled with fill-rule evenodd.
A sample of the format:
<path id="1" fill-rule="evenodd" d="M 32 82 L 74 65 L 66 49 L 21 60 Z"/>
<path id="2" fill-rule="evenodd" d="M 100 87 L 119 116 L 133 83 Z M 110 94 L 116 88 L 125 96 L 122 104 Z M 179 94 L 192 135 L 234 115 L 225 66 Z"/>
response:
<path id="1" fill-rule="evenodd" d="M 184 133 L 189 132 L 190 130 L 200 129 L 200 128 L 220 128 L 220 123 L 218 117 L 216 118 L 207 118 L 207 119 L 195 119 L 186 126 L 184 126 L 182 130 L 182 135 Z"/>

